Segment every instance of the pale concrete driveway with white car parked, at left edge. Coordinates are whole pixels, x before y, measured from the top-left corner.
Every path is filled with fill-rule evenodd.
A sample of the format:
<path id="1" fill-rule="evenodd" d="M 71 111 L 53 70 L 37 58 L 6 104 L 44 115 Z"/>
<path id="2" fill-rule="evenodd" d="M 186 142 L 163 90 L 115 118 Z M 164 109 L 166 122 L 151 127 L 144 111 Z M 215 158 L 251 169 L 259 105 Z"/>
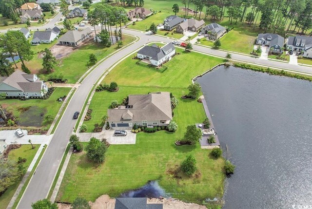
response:
<path id="1" fill-rule="evenodd" d="M 30 139 L 33 144 L 48 144 L 53 135 L 28 135 L 26 130 L 22 130 L 25 134 L 22 137 L 19 137 L 15 130 L 6 130 L 0 131 L 0 138 L 6 139 L 6 143 L 17 143 L 17 144 L 29 144 L 28 140 Z"/>

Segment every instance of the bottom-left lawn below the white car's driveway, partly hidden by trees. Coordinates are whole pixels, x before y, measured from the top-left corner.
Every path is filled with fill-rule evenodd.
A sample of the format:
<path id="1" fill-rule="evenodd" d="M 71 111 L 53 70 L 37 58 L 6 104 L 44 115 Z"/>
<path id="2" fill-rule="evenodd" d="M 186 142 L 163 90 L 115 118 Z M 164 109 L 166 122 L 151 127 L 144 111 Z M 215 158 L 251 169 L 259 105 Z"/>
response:
<path id="1" fill-rule="evenodd" d="M 34 145 L 35 149 L 32 149 L 31 145 L 21 145 L 19 149 L 12 150 L 9 153 L 8 158 L 17 162 L 18 158 L 26 158 L 26 162 L 23 166 L 26 168 L 29 167 L 31 161 L 33 160 L 36 152 L 39 149 L 40 145 Z M 11 201 L 15 191 L 18 189 L 21 179 L 16 182 L 14 185 L 9 187 L 1 196 L 0 196 L 0 209 L 6 209 L 7 205 Z"/>

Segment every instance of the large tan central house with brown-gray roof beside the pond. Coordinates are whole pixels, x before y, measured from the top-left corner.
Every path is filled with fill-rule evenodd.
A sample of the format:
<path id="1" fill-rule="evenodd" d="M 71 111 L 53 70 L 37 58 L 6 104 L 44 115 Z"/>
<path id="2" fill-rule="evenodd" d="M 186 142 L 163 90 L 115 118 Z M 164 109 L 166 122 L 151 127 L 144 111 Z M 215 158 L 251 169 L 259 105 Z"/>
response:
<path id="1" fill-rule="evenodd" d="M 107 111 L 111 128 L 139 126 L 168 126 L 172 120 L 169 92 L 129 95 L 126 106 Z"/>

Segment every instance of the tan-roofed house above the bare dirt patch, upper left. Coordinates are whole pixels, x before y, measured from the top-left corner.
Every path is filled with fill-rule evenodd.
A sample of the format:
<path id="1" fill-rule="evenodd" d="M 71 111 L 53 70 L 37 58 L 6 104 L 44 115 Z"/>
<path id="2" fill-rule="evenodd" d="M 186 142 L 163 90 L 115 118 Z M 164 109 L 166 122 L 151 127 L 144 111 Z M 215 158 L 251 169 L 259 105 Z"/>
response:
<path id="1" fill-rule="evenodd" d="M 86 28 L 83 31 L 67 31 L 63 36 L 59 38 L 59 44 L 78 46 L 82 41 L 93 36 L 93 32 L 90 28 Z"/>

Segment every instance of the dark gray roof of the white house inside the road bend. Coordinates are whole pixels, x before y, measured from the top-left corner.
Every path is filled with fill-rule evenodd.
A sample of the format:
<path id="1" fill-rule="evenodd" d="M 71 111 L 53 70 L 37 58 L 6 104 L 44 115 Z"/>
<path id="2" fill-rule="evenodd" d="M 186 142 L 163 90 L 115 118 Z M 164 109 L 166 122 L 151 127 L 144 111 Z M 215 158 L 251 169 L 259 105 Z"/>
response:
<path id="1" fill-rule="evenodd" d="M 175 50 L 175 46 L 172 43 L 168 43 L 167 45 L 163 46 L 162 48 L 158 48 L 156 44 L 152 46 L 144 46 L 140 49 L 137 54 L 145 55 L 148 57 L 152 57 L 153 60 L 160 60 L 166 56 L 165 52 L 168 50 Z"/>

